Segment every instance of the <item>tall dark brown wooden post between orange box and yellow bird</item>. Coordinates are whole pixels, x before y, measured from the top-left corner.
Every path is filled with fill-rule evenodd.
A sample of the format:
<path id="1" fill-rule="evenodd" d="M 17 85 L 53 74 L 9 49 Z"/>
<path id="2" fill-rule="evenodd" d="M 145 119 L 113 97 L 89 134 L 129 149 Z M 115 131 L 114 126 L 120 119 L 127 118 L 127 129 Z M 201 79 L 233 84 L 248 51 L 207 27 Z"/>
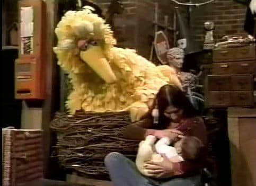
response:
<path id="1" fill-rule="evenodd" d="M 54 112 L 56 111 L 56 103 L 59 100 L 55 99 L 55 96 L 58 94 L 57 85 L 58 85 L 58 67 L 55 59 L 54 52 L 52 47 L 55 46 L 55 33 L 54 29 L 57 24 L 57 13 L 58 13 L 58 1 L 55 0 L 45 0 L 46 2 L 46 12 L 47 12 L 47 56 L 46 56 L 46 99 L 43 102 L 42 106 L 42 129 L 43 129 L 43 141 L 44 141 L 44 158 L 45 158 L 45 178 L 50 176 L 50 167 L 49 167 L 49 158 L 50 158 L 50 121 Z M 57 98 L 59 96 L 56 96 Z"/>

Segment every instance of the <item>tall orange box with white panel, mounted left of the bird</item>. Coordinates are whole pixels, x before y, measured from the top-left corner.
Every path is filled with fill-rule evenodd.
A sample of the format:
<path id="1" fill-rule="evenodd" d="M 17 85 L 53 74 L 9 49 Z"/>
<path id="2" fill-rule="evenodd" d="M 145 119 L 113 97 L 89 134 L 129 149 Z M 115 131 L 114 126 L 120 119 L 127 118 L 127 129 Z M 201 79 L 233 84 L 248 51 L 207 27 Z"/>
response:
<path id="1" fill-rule="evenodd" d="M 15 61 L 15 98 L 45 98 L 45 2 L 19 1 L 19 58 Z"/>

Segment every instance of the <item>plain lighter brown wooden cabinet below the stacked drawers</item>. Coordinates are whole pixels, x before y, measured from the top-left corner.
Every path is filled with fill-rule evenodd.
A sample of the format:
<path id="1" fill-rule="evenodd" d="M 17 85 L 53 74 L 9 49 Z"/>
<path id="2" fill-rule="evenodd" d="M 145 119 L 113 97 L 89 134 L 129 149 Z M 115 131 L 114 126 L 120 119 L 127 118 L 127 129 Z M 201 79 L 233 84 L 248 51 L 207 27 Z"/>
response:
<path id="1" fill-rule="evenodd" d="M 228 108 L 232 186 L 256 186 L 256 108 Z"/>

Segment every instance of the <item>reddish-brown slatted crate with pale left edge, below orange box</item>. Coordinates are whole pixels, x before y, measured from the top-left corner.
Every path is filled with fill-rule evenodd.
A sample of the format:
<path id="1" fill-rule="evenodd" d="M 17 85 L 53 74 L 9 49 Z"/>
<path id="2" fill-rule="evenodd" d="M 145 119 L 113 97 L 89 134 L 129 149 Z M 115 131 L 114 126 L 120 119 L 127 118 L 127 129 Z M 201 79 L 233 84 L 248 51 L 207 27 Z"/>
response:
<path id="1" fill-rule="evenodd" d="M 3 185 L 43 178 L 42 130 L 3 129 Z"/>

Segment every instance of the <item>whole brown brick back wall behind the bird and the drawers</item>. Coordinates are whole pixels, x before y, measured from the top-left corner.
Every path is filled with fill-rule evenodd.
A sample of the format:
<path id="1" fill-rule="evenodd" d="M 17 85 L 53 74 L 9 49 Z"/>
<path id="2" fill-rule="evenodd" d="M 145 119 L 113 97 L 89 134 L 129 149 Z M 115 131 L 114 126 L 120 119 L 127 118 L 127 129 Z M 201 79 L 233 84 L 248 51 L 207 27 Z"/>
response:
<path id="1" fill-rule="evenodd" d="M 107 11 L 110 0 L 95 0 L 103 12 Z M 174 7 L 178 6 L 171 0 L 122 0 L 125 11 L 122 15 L 116 15 L 114 26 L 117 29 L 116 37 L 119 39 L 119 47 L 133 48 L 146 58 L 149 58 L 151 43 L 154 38 L 154 3 L 158 3 L 158 21 L 164 23 L 164 16 L 168 16 L 169 26 L 173 26 Z M 186 6 L 179 6 L 184 21 L 187 20 L 188 10 Z M 204 22 L 214 21 L 214 37 L 219 39 L 226 34 L 242 34 L 246 7 L 233 0 L 215 0 L 212 3 L 191 8 L 191 27 L 195 31 L 195 39 L 204 40 Z M 161 29 L 160 29 L 161 30 Z M 170 46 L 174 46 L 173 32 L 167 31 Z M 121 38 L 121 39 L 120 39 Z M 154 60 L 157 60 L 156 58 Z"/>

